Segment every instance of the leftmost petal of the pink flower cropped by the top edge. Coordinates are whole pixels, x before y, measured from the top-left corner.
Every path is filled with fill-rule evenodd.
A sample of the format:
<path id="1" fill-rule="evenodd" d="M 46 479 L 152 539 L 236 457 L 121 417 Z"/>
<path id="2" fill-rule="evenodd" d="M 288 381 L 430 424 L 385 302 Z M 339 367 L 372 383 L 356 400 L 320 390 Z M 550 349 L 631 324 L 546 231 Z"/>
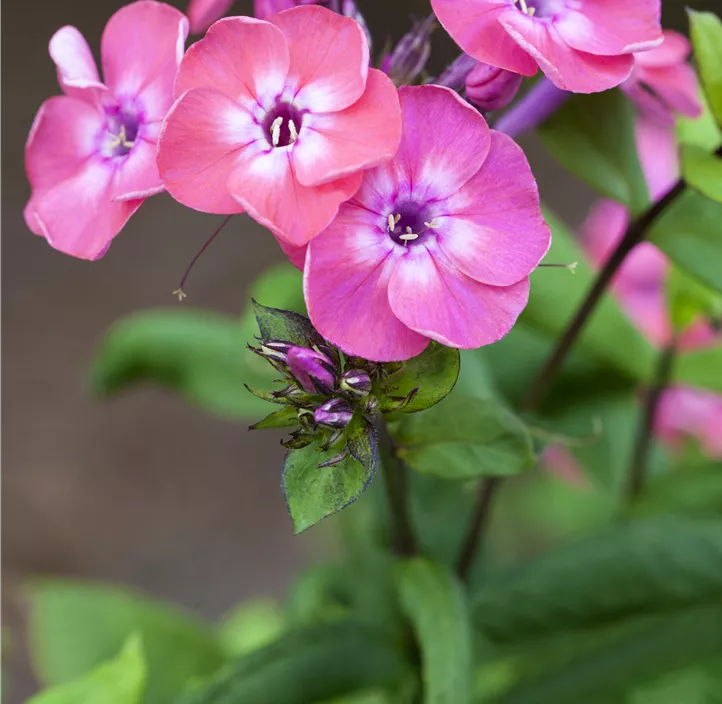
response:
<path id="1" fill-rule="evenodd" d="M 431 0 L 431 6 L 454 41 L 477 61 L 522 76 L 537 72 L 534 59 L 499 24 L 506 0 Z"/>

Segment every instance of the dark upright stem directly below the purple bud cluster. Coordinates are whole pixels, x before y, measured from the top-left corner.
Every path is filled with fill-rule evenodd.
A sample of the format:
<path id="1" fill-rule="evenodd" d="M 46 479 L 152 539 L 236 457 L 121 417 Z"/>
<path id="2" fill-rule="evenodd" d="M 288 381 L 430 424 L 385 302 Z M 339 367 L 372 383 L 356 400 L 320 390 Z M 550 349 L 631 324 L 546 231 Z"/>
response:
<path id="1" fill-rule="evenodd" d="M 407 505 L 406 465 L 398 455 L 398 447 L 391 437 L 384 420 L 379 418 L 376 427 L 379 431 L 381 471 L 384 475 L 386 496 L 388 497 L 393 523 L 394 552 L 399 557 L 410 557 L 416 553 L 416 541 L 414 540 Z"/>

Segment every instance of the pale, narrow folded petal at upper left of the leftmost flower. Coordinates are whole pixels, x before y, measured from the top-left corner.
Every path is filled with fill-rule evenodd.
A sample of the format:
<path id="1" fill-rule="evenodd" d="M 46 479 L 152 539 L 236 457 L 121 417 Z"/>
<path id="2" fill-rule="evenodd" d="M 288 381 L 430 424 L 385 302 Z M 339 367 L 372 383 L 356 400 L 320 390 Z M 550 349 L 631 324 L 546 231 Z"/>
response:
<path id="1" fill-rule="evenodd" d="M 113 98 L 100 82 L 88 42 L 75 27 L 61 27 L 50 39 L 50 57 L 58 69 L 58 83 L 66 95 L 96 102 Z"/>

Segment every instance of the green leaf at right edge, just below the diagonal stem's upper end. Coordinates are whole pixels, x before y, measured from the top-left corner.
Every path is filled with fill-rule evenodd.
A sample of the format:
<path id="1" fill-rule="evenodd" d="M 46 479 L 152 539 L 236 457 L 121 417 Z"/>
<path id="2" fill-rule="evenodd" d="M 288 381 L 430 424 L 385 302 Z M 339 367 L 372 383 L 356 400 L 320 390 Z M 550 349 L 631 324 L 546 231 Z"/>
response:
<path id="1" fill-rule="evenodd" d="M 688 274 L 722 291 L 722 203 L 687 189 L 655 221 L 650 241 Z"/>

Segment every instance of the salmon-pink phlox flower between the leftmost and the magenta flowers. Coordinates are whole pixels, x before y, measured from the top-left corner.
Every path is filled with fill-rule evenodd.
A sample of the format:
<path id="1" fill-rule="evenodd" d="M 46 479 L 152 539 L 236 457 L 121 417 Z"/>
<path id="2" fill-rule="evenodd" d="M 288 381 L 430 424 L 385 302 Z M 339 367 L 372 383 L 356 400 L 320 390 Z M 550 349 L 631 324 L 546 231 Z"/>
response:
<path id="1" fill-rule="evenodd" d="M 168 191 L 196 210 L 246 211 L 289 246 L 305 244 L 363 169 L 396 152 L 396 89 L 368 63 L 359 24 L 319 6 L 216 22 L 176 78 L 158 149 Z"/>

